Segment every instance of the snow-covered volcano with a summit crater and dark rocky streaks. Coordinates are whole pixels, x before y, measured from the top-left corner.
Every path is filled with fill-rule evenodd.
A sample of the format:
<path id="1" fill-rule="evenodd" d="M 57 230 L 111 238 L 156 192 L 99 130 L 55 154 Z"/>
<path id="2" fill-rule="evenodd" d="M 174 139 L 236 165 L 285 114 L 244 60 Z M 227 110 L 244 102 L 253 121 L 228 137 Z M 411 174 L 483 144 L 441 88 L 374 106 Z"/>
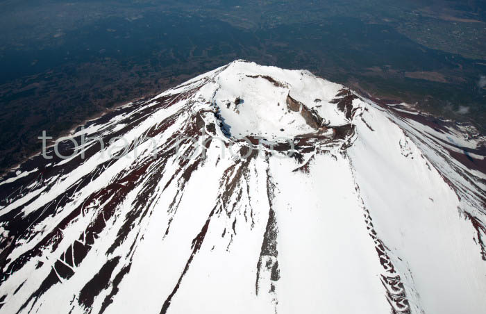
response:
<path id="1" fill-rule="evenodd" d="M 238 60 L 0 181 L 0 313 L 485 313 L 485 155 Z"/>

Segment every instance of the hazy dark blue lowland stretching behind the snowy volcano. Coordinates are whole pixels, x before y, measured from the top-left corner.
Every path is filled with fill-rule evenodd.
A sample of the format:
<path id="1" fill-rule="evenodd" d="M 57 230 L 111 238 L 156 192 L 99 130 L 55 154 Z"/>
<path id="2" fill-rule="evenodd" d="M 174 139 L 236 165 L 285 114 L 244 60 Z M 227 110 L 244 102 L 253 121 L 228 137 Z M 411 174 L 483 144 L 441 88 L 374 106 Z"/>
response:
<path id="1" fill-rule="evenodd" d="M 483 129 L 485 1 L 1 1 L 0 169 L 87 117 L 236 58 Z M 467 4 L 464 4 L 467 3 Z"/>

